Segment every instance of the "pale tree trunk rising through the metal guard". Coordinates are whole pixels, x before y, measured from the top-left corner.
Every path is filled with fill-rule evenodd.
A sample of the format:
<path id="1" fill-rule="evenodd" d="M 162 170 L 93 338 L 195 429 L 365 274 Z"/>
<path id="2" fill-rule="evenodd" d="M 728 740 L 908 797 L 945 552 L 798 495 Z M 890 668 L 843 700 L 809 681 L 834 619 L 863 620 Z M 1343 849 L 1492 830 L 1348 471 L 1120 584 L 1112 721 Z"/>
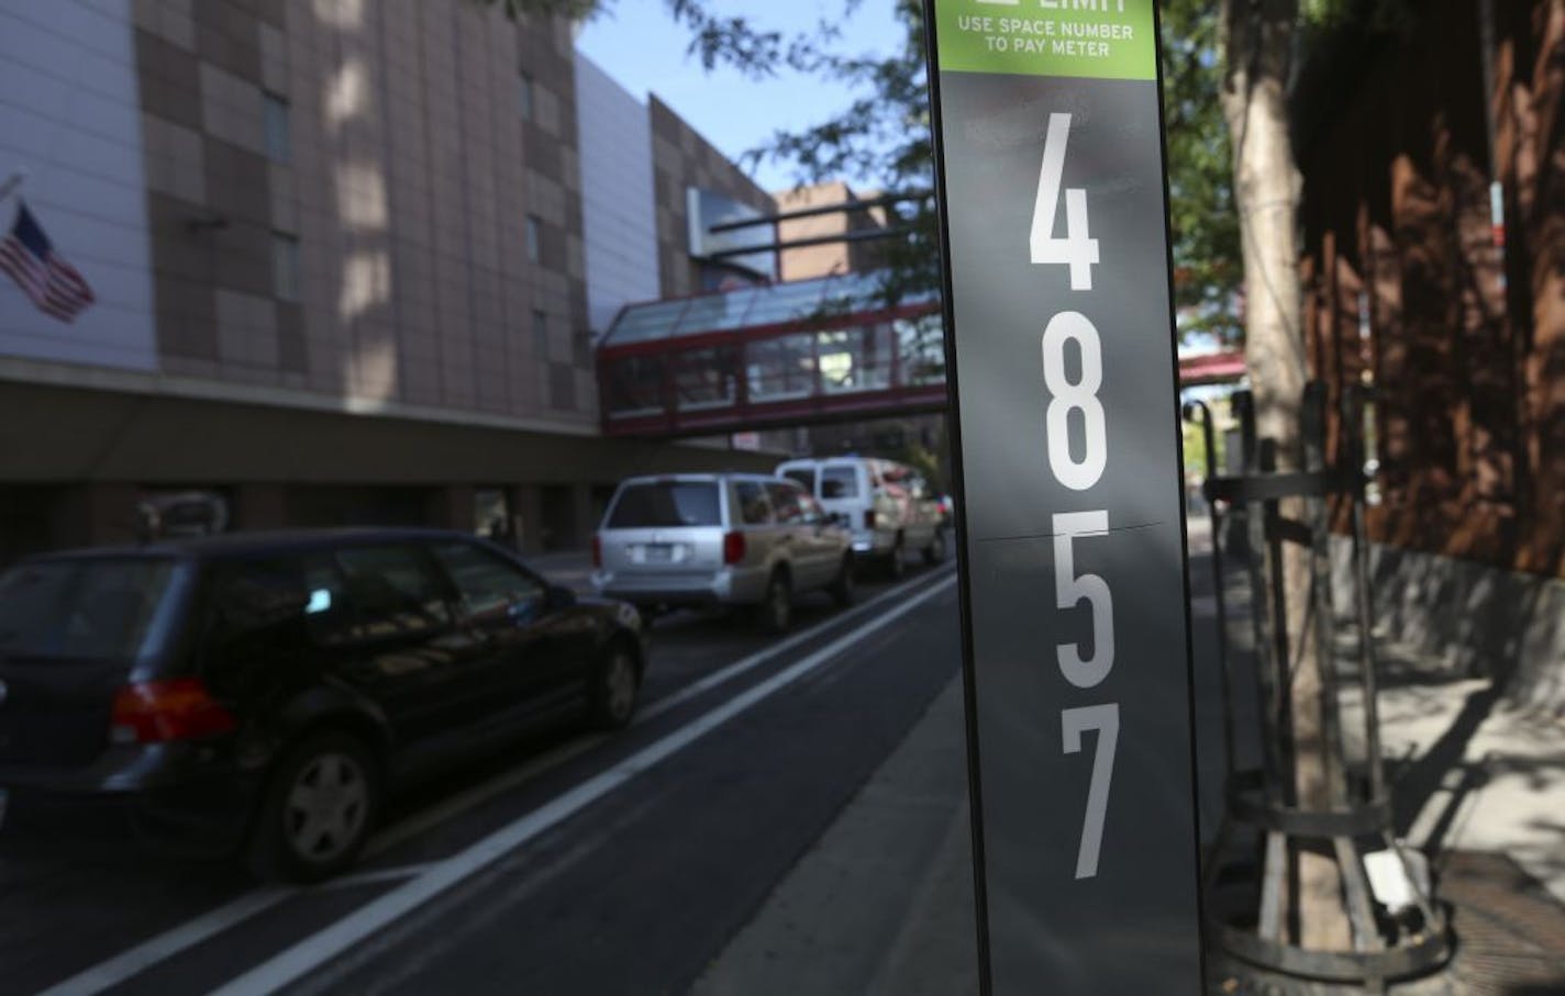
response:
<path id="1" fill-rule="evenodd" d="M 1302 291 L 1299 285 L 1299 170 L 1288 134 L 1286 86 L 1293 63 L 1299 0 L 1224 0 L 1222 39 L 1227 56 L 1222 109 L 1233 139 L 1233 194 L 1244 253 L 1244 360 L 1255 396 L 1255 425 L 1275 444 L 1279 469 L 1302 463 L 1299 402 L 1308 377 Z M 1283 503 L 1288 518 L 1302 518 L 1301 500 Z M 1308 624 L 1308 552 L 1283 544 L 1288 660 L 1294 672 L 1293 788 L 1294 802 L 1327 808 L 1333 791 L 1327 777 L 1333 744 L 1322 736 L 1322 688 L 1315 668 L 1315 627 Z M 1257 593 L 1260 594 L 1260 593 Z M 1265 611 L 1263 599 L 1257 610 Z M 1296 668 L 1296 671 L 1294 671 Z M 1286 677 L 1285 677 L 1286 680 Z M 1286 755 L 1285 755 L 1286 758 Z M 1347 919 L 1335 857 L 1305 847 L 1293 855 L 1290 879 L 1296 940 L 1310 949 L 1349 948 Z"/>

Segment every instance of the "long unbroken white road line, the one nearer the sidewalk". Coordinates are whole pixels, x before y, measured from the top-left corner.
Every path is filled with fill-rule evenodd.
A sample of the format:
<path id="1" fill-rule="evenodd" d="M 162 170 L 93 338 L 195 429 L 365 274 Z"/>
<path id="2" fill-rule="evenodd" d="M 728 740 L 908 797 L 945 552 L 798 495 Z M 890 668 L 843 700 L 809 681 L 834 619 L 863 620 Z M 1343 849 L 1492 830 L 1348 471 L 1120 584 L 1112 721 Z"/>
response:
<path id="1" fill-rule="evenodd" d="M 712 708 L 684 727 L 665 735 L 662 740 L 651 743 L 609 771 L 604 771 L 570 791 L 556 796 L 515 822 L 495 830 L 484 840 L 470 846 L 466 851 L 438 862 L 412 882 L 360 907 L 347 918 L 316 932 L 293 948 L 279 952 L 272 958 L 261 962 L 250 971 L 214 990 L 213 996 L 257 996 L 261 993 L 275 993 L 285 985 L 297 982 L 310 971 L 341 955 L 355 944 L 363 943 L 366 938 L 379 933 L 380 930 L 385 930 L 393 923 L 423 904 L 435 899 L 446 890 L 499 862 L 516 847 L 531 841 L 534 837 L 538 837 L 545 830 L 549 830 L 556 824 L 584 810 L 587 805 L 607 796 L 634 779 L 637 774 L 690 746 L 701 736 L 706 736 L 721 724 L 768 699 L 782 688 L 787 688 L 870 633 L 890 625 L 934 596 L 944 594 L 950 589 L 952 583 L 953 579 L 945 579 L 944 582 L 928 586 L 911 600 L 898 605 L 884 616 L 880 616 L 875 621 L 839 636 L 825 647 L 809 654 L 770 679 L 739 693 L 723 705 Z"/>

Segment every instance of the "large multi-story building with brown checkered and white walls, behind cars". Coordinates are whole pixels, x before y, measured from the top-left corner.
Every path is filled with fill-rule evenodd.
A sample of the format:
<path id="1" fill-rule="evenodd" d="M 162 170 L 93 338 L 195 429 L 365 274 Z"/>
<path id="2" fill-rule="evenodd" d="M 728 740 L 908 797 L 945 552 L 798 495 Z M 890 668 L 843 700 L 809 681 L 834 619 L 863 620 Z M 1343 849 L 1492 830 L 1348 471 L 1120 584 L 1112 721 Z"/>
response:
<path id="1" fill-rule="evenodd" d="M 624 474 L 768 463 L 598 430 L 593 333 L 629 300 L 775 278 L 768 253 L 700 260 L 704 225 L 775 203 L 563 20 L 8 2 L 13 164 L 99 300 L 67 325 L 0 281 L 0 560 L 131 538 L 188 491 L 233 527 L 534 550 L 579 543 Z"/>

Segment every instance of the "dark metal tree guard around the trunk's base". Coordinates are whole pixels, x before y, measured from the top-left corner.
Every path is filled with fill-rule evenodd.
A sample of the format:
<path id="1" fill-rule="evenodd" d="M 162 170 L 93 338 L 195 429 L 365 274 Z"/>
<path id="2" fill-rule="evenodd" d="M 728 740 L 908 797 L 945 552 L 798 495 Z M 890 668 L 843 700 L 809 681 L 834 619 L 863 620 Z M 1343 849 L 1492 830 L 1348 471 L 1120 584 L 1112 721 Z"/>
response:
<path id="1" fill-rule="evenodd" d="M 1257 441 L 1249 391 L 1233 396 L 1244 446 L 1244 472 L 1218 472 L 1211 411 L 1200 402 L 1185 407 L 1186 421 L 1202 427 L 1207 441 L 1203 494 L 1211 514 L 1213 574 L 1218 597 L 1219 663 L 1222 668 L 1224 760 L 1227 779 L 1224 815 L 1207 862 L 1205 910 L 1208 937 L 1229 954 L 1290 976 L 1355 982 L 1382 991 L 1390 979 L 1418 976 L 1440 966 L 1451 952 L 1444 908 L 1423 872 L 1419 855 L 1394 837 L 1380 729 L 1376 710 L 1376 663 L 1371 641 L 1368 539 L 1365 535 L 1363 392 L 1343 397 L 1338 464 L 1327 468 L 1324 385 L 1305 388 L 1302 405 L 1304 471 L 1277 472 L 1268 441 Z M 1335 614 L 1330 589 L 1330 499 L 1351 507 L 1354 604 Z M 1283 499 L 1299 499 L 1302 518 L 1282 511 Z M 1241 675 L 1227 649 L 1224 557 L 1221 525 L 1227 514 L 1243 516 L 1247 535 L 1250 618 L 1255 641 L 1254 674 Z M 1308 550 L 1310 589 L 1305 625 L 1315 632 L 1313 660 L 1294 660 L 1290 649 L 1288 597 L 1283 583 L 1286 544 Z M 1333 655 L 1338 621 L 1355 630 L 1355 661 L 1344 666 Z M 1294 791 L 1296 740 L 1294 679 L 1313 666 L 1321 682 L 1321 736 L 1326 744 L 1327 808 L 1301 805 Z M 1349 761 L 1341 710 L 1343 686 L 1362 697 L 1363 757 Z M 1236 757 L 1238 707 L 1255 705 L 1254 733 L 1258 766 L 1239 766 Z M 1250 849 L 1246 851 L 1246 846 Z M 1351 951 L 1321 951 L 1290 940 L 1290 855 L 1301 847 L 1324 849 L 1341 876 L 1344 913 L 1352 932 Z M 1257 857 L 1260 874 L 1257 876 Z M 1258 880 L 1257 880 L 1258 879 Z M 1393 893 L 1402 893 L 1399 897 Z"/>

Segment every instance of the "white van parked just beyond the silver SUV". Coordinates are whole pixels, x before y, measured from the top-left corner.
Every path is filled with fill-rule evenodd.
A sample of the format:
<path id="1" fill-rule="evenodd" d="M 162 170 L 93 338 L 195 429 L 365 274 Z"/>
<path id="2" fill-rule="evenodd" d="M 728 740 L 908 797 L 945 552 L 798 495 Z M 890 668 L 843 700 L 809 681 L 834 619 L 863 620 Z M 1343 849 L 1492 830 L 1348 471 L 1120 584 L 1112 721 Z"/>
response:
<path id="1" fill-rule="evenodd" d="M 814 494 L 828 513 L 844 516 L 853 528 L 853 554 L 880 561 L 890 577 L 901 577 L 908 550 L 919 550 L 930 564 L 945 560 L 939 502 L 912 468 L 828 457 L 789 460 L 776 472 Z"/>

